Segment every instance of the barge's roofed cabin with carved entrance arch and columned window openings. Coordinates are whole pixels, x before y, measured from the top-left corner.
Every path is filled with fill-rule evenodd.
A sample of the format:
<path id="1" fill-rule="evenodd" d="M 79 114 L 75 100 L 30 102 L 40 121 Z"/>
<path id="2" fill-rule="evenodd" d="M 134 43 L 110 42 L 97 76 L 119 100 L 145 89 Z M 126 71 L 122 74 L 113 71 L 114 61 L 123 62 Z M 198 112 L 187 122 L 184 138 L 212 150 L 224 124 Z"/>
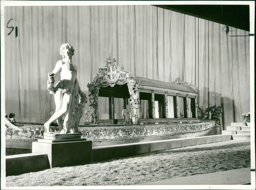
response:
<path id="1" fill-rule="evenodd" d="M 106 68 L 99 68 L 97 76 L 87 85 L 90 110 L 85 112 L 85 124 L 89 123 L 91 116 L 90 123 L 93 124 L 117 124 L 123 121 L 136 124 L 141 119 L 197 118 L 198 88 L 194 85 L 180 78 L 168 83 L 133 76 L 124 70 L 123 65 L 115 66 L 116 59 L 111 55 L 105 62 Z M 102 115 L 99 115 L 102 106 L 99 97 L 105 97 L 102 104 L 108 101 L 109 109 L 105 118 L 99 118 Z"/>

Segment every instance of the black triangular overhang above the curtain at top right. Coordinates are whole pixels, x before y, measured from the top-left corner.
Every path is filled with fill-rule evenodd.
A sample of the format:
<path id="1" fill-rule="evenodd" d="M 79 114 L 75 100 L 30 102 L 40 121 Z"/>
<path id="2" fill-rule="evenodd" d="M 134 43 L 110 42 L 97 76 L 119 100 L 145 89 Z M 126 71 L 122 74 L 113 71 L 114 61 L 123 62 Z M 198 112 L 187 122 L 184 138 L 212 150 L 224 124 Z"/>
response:
<path id="1" fill-rule="evenodd" d="M 250 31 L 249 5 L 154 5 L 170 11 Z"/>

